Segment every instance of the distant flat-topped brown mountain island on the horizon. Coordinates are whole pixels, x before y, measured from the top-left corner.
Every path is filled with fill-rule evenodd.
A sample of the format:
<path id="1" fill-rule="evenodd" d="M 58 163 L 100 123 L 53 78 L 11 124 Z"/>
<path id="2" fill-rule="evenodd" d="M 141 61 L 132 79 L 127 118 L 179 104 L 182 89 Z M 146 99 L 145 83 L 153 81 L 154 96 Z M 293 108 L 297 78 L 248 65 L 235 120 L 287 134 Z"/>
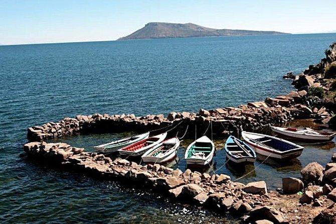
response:
<path id="1" fill-rule="evenodd" d="M 196 24 L 177 23 L 148 23 L 140 30 L 121 37 L 118 40 L 182 38 L 182 37 L 211 37 L 211 36 L 246 36 L 246 35 L 279 35 L 288 34 L 276 31 L 228 30 L 212 29 Z"/>

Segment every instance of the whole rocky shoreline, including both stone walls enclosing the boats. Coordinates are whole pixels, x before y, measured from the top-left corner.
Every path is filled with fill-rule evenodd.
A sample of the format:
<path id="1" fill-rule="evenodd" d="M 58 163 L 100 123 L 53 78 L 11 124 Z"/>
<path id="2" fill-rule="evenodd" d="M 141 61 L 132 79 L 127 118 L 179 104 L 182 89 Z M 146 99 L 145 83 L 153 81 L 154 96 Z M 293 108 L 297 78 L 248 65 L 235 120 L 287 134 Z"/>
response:
<path id="1" fill-rule="evenodd" d="M 333 128 L 335 102 L 312 97 L 309 89 L 332 89 L 324 73 L 325 68 L 334 61 L 336 44 L 326 51 L 326 58 L 321 63 L 309 66 L 300 75 L 288 73 L 285 76 L 293 79 L 297 91 L 238 107 L 200 109 L 197 114 L 172 112 L 166 118 L 164 115 L 78 115 L 76 118 L 34 126 L 28 129 L 27 137 L 31 142 L 24 146 L 24 151 L 28 156 L 48 163 L 120 180 L 130 186 L 156 190 L 182 203 L 195 204 L 224 215 L 230 212 L 246 223 L 331 223 L 336 221 L 336 190 L 333 189 L 336 187 L 336 154 L 325 168 L 318 163 L 308 164 L 301 170 L 302 180 L 284 178 L 281 193 L 278 193 L 267 191 L 264 181 L 244 185 L 232 182 L 224 174 L 209 175 L 189 169 L 183 173 L 179 169 L 158 164 L 142 166 L 121 158 L 112 161 L 104 155 L 85 152 L 83 148 L 44 141 L 76 133 L 145 132 L 175 126 L 176 132 L 186 132 L 186 137 L 194 138 L 195 130 L 188 127 L 195 125 L 199 133 L 208 135 L 211 125 L 214 138 L 223 138 L 229 132 L 260 131 L 270 124 L 304 118 L 313 118 Z M 299 195 L 298 192 L 303 193 Z"/>

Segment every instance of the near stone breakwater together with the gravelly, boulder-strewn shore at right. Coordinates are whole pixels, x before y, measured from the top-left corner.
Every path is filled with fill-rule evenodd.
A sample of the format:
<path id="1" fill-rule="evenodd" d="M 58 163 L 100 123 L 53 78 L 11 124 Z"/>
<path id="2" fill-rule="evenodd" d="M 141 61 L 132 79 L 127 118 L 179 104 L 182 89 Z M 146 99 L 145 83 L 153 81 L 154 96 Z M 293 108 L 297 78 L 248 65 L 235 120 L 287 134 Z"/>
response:
<path id="1" fill-rule="evenodd" d="M 85 152 L 83 148 L 66 143 L 30 142 L 24 145 L 24 151 L 29 157 L 48 164 L 118 180 L 129 187 L 152 190 L 174 201 L 219 214 L 229 213 L 241 217 L 245 223 L 307 223 L 314 217 L 326 220 L 329 216 L 325 212 L 336 213 L 336 206 L 333 206 L 336 201 L 334 162 L 324 169 L 317 163 L 308 164 L 301 171 L 303 182 L 284 178 L 282 191 L 286 194 L 280 194 L 268 191 L 264 181 L 245 185 L 231 181 L 225 174 L 210 175 L 190 169 L 182 172 L 159 164 L 142 166 L 126 159 L 112 160 L 102 154 Z M 332 160 L 336 161 L 335 158 L 336 154 Z M 303 191 L 303 195 L 295 194 L 298 191 Z"/>

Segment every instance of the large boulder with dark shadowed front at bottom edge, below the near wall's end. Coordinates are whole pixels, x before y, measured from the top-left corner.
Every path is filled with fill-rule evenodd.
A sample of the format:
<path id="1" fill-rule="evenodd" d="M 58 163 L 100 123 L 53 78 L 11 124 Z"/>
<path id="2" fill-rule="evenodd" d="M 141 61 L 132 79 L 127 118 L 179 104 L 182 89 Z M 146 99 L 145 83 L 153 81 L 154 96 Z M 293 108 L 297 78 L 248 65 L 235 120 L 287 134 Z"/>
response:
<path id="1" fill-rule="evenodd" d="M 273 223 L 281 223 L 284 221 L 279 211 L 268 206 L 257 205 L 250 211 L 249 215 L 250 217 L 247 219 L 248 222 L 259 220 L 261 217 Z"/>

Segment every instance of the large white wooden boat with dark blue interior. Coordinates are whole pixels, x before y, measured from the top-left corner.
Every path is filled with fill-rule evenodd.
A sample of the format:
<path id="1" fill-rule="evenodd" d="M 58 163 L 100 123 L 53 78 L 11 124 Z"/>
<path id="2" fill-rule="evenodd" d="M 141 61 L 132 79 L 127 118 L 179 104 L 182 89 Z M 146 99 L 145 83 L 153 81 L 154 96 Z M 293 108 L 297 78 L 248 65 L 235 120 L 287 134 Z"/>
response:
<path id="1" fill-rule="evenodd" d="M 273 159 L 291 159 L 301 155 L 303 147 L 273 136 L 242 132 L 242 138 L 258 154 Z"/>

